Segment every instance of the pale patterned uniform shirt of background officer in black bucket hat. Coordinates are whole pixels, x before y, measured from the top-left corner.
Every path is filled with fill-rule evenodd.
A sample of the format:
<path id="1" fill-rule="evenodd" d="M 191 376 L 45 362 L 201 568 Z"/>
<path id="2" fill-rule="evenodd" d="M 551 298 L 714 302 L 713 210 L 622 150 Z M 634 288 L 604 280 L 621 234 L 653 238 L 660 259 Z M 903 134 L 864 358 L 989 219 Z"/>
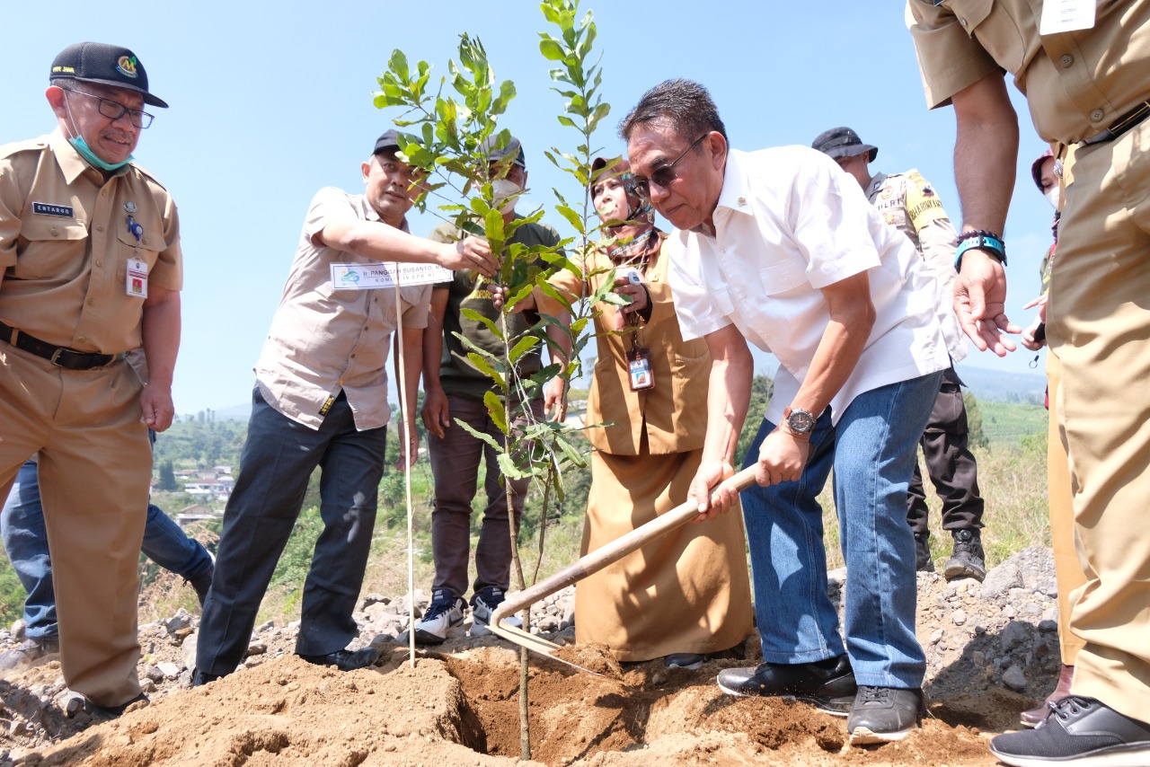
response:
<path id="1" fill-rule="evenodd" d="M 897 227 L 914 244 L 914 250 L 950 296 L 957 276 L 957 235 L 934 187 L 912 168 L 905 174 L 877 174 L 871 179 L 866 195 L 871 205 L 879 208 L 882 220 Z"/>

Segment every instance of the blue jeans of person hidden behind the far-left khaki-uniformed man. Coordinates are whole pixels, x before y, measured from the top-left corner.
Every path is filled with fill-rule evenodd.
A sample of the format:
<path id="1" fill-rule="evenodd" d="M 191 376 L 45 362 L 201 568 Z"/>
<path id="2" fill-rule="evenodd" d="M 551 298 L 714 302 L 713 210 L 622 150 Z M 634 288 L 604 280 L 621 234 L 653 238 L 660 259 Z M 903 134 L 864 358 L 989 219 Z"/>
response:
<path id="1" fill-rule="evenodd" d="M 26 635 L 30 638 L 57 636 L 56 596 L 52 588 L 52 560 L 36 461 L 25 462 L 16 474 L 16 483 L 0 512 L 0 532 L 12 568 L 28 592 L 24 600 Z M 212 569 L 212 557 L 204 546 L 184 535 L 181 527 L 153 504 L 147 507 L 140 550 L 160 567 L 189 581 Z"/>

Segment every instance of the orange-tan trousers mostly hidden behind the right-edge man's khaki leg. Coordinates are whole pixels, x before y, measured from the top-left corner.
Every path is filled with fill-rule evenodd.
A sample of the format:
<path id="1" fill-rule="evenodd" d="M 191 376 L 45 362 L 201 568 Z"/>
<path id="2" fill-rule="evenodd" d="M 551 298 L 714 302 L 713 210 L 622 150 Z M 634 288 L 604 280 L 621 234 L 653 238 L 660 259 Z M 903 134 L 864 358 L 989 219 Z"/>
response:
<path id="1" fill-rule="evenodd" d="M 1082 563 L 1074 547 L 1074 496 L 1066 447 L 1058 430 L 1058 389 L 1061 363 L 1046 352 L 1046 383 L 1050 393 L 1050 430 L 1046 436 L 1046 498 L 1050 508 L 1050 545 L 1055 550 L 1055 577 L 1058 580 L 1058 644 L 1063 664 L 1073 666 L 1086 644 L 1071 631 L 1071 592 L 1086 584 Z"/>

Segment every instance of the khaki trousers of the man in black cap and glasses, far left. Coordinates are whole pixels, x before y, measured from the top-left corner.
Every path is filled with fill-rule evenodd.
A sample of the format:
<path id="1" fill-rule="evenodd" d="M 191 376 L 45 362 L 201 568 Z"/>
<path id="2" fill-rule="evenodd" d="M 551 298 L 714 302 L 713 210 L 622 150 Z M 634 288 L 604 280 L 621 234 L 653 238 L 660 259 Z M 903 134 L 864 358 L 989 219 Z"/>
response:
<path id="1" fill-rule="evenodd" d="M 139 552 L 152 454 L 126 362 L 66 370 L 0 343 L 0 497 L 39 451 L 64 682 L 100 706 L 140 692 Z"/>

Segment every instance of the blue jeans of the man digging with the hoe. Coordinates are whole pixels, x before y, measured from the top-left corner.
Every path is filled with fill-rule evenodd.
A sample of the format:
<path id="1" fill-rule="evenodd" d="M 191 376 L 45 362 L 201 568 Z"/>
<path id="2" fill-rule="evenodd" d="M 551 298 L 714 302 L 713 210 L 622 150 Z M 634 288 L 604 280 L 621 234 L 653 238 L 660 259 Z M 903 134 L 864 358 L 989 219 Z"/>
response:
<path id="1" fill-rule="evenodd" d="M 906 524 L 906 485 L 941 375 L 859 394 L 837 425 L 828 408 L 815 422 L 798 481 L 741 493 L 765 661 L 807 664 L 845 651 L 859 684 L 922 685 L 926 657 L 914 637 L 914 536 Z M 774 428 L 764 419 L 745 466 L 757 462 Z M 848 573 L 845 650 L 827 596 L 816 500 L 831 468 Z"/>

